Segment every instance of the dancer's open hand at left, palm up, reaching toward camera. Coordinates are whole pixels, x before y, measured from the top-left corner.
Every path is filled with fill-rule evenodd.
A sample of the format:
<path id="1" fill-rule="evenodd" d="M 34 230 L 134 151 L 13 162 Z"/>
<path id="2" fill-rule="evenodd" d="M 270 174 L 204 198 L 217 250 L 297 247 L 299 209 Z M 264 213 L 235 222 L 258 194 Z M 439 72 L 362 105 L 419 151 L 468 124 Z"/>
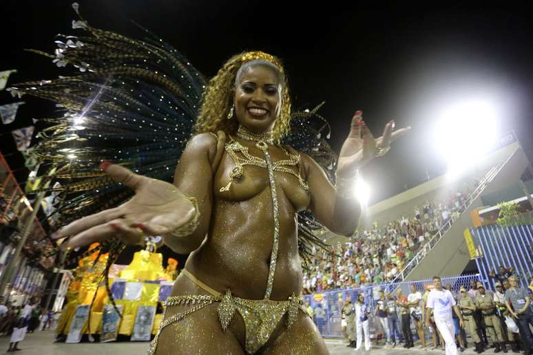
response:
<path id="1" fill-rule="evenodd" d="M 194 205 L 173 184 L 137 175 L 116 164 L 103 162 L 101 169 L 114 181 L 135 191 L 131 200 L 63 227 L 56 238 L 70 237 L 67 247 L 76 248 L 112 237 L 125 244 L 143 244 L 146 235 L 167 235 L 187 224 Z"/>

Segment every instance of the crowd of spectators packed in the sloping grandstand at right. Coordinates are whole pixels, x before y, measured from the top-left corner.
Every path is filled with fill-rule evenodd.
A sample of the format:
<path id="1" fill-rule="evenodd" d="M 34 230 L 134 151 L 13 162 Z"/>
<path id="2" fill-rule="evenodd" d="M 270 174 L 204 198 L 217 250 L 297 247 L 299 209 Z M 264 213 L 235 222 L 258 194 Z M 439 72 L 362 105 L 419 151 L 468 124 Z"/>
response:
<path id="1" fill-rule="evenodd" d="M 330 252 L 315 250 L 311 267 L 304 272 L 304 294 L 393 281 L 428 239 L 452 216 L 460 215 L 478 184 L 465 183 L 462 189 L 448 191 L 442 201 L 415 206 L 412 216 L 357 230 L 346 243 L 331 246 Z"/>

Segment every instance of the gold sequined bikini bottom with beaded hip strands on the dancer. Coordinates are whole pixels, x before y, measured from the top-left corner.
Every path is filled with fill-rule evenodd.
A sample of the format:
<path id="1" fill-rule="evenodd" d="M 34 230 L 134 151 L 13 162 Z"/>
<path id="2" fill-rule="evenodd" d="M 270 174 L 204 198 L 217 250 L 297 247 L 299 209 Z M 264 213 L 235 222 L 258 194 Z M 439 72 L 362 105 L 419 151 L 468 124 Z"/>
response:
<path id="1" fill-rule="evenodd" d="M 222 330 L 227 330 L 233 314 L 235 311 L 239 312 L 244 321 L 246 328 L 246 351 L 249 354 L 254 354 L 266 341 L 269 340 L 275 327 L 278 325 L 282 317 L 287 313 L 286 327 L 289 329 L 296 320 L 298 310 L 309 315 L 304 308 L 304 299 L 302 295 L 295 296 L 294 294 L 286 301 L 272 301 L 270 299 L 241 299 L 231 295 L 231 291 L 227 290 L 225 294 L 221 294 L 213 290 L 202 281 L 196 279 L 187 270 L 183 269 L 182 274 L 189 278 L 202 290 L 209 294 L 185 294 L 182 296 L 171 296 L 165 301 L 167 307 L 174 306 L 190 306 L 187 310 L 173 314 L 172 316 L 163 317 L 159 325 L 159 330 L 148 348 L 148 354 L 154 355 L 157 349 L 159 334 L 163 328 L 176 323 L 183 319 L 187 314 L 196 312 L 210 305 L 214 302 L 220 302 L 218 306 L 218 319 Z"/>

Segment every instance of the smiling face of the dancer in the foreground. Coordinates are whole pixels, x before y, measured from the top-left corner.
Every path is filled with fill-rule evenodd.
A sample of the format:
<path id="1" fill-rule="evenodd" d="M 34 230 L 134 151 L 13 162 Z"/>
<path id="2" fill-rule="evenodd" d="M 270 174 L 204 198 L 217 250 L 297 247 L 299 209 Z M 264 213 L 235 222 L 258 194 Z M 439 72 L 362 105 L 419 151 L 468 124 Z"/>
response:
<path id="1" fill-rule="evenodd" d="M 240 125 L 253 133 L 272 131 L 281 105 L 279 74 L 264 65 L 244 69 L 236 80 L 233 105 Z"/>

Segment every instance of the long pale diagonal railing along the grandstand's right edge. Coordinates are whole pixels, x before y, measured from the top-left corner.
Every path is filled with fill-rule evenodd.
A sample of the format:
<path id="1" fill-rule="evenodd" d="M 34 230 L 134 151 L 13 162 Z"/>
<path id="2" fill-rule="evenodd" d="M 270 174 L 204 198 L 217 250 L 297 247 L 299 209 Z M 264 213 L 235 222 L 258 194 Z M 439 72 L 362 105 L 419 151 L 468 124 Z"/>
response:
<path id="1" fill-rule="evenodd" d="M 470 193 L 470 195 L 466 197 L 465 202 L 461 205 L 461 207 L 459 207 L 459 210 L 457 210 L 457 212 L 459 212 L 459 215 L 457 215 L 457 213 L 452 213 L 448 221 L 446 221 L 446 223 L 444 223 L 443 226 L 439 228 L 437 233 L 435 233 L 435 235 L 433 235 L 426 242 L 426 244 L 424 244 L 424 246 L 422 246 L 420 250 L 418 250 L 415 256 L 413 256 L 412 259 L 406 264 L 406 266 L 404 266 L 404 268 L 400 272 L 398 272 L 398 275 L 396 275 L 396 277 L 393 279 L 393 281 L 391 281 L 391 283 L 404 281 L 406 279 L 406 277 L 410 274 L 410 272 L 418 266 L 420 261 L 422 261 L 422 259 L 426 257 L 428 252 L 430 252 L 430 250 L 432 250 L 432 248 L 434 248 L 437 245 L 437 243 L 442 239 L 444 234 L 452 226 L 453 222 L 461 218 L 463 213 L 467 210 L 468 207 L 470 207 L 472 202 L 474 202 L 474 200 L 476 200 L 477 197 L 481 195 L 481 193 L 483 192 L 485 187 L 488 185 L 488 183 L 490 183 L 492 179 L 494 179 L 494 177 L 501 171 L 503 166 L 505 166 L 505 164 L 508 162 L 510 158 L 511 157 L 505 160 L 505 162 L 501 162 L 495 166 L 492 166 L 492 168 L 488 171 L 488 173 L 485 174 L 481 182 L 479 182 L 479 185 L 477 186 L 477 188 L 474 189 L 474 191 L 472 191 L 472 193 Z"/>

